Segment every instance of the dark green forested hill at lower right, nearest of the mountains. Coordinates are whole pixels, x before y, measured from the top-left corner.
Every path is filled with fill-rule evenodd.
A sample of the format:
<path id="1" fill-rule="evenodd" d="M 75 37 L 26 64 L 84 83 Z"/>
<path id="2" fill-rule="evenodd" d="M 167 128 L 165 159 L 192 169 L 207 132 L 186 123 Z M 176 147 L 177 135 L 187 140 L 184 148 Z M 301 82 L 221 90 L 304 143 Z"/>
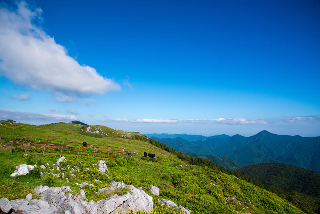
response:
<path id="1" fill-rule="evenodd" d="M 278 187 L 286 192 L 304 193 L 320 201 L 320 172 L 283 163 L 259 163 L 232 170 L 263 184 Z"/>

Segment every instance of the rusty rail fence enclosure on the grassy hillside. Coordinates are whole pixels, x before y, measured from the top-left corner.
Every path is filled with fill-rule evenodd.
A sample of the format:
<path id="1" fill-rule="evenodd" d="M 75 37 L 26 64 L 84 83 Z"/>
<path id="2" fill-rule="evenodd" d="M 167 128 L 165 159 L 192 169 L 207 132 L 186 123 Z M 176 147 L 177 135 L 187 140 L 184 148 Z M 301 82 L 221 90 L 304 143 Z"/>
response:
<path id="1" fill-rule="evenodd" d="M 44 140 L 23 138 L 22 140 L 9 140 L 11 143 L 12 152 L 24 152 L 24 155 L 36 154 L 42 155 L 42 157 L 56 158 L 57 156 L 65 157 L 79 157 L 79 156 L 92 156 L 97 159 L 120 159 L 130 158 L 133 160 L 136 157 L 137 152 L 134 150 L 128 150 L 125 148 L 103 145 L 91 145 L 83 146 L 81 143 L 66 142 L 57 140 Z"/>

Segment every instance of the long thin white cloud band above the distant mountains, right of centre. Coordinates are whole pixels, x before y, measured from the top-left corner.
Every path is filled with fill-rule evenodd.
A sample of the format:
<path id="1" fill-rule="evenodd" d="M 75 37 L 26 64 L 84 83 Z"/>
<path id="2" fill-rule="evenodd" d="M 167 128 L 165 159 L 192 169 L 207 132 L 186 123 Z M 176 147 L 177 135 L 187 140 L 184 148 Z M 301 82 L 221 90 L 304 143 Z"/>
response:
<path id="1" fill-rule="evenodd" d="M 236 124 L 268 124 L 272 121 L 263 119 L 243 119 L 243 118 L 219 118 L 219 119 L 101 119 L 102 122 L 132 122 L 132 123 L 224 123 Z"/>

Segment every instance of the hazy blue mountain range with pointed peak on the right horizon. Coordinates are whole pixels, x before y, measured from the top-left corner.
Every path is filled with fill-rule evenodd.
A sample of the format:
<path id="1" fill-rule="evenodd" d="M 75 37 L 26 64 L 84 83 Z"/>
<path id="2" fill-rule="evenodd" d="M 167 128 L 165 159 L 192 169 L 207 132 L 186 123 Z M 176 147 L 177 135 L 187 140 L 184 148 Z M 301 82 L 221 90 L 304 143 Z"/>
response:
<path id="1" fill-rule="evenodd" d="M 266 130 L 250 137 L 206 138 L 197 141 L 181 137 L 152 139 L 184 153 L 226 157 L 244 166 L 263 162 L 282 162 L 320 171 L 320 137 L 276 135 Z"/>

